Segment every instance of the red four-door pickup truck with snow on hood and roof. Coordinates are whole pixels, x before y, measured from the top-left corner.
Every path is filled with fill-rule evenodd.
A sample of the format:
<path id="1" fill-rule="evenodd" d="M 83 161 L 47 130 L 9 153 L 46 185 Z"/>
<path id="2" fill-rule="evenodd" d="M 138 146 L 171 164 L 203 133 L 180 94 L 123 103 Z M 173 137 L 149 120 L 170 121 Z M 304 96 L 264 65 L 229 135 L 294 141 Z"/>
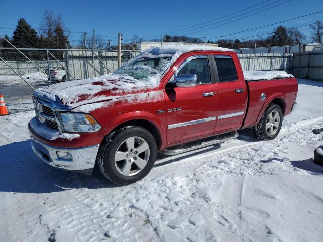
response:
<path id="1" fill-rule="evenodd" d="M 51 166 L 86 174 L 97 167 L 114 183 L 130 184 L 150 172 L 157 152 L 220 143 L 248 127 L 274 139 L 297 90 L 285 72 L 244 75 L 229 49 L 155 47 L 110 75 L 36 90 L 28 127 L 33 151 Z"/>

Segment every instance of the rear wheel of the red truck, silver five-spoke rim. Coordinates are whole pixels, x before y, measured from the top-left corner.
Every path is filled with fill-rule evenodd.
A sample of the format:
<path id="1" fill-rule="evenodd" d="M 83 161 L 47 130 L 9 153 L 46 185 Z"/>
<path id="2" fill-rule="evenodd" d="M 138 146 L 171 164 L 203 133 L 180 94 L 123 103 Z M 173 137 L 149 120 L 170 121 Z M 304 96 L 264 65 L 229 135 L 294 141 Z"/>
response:
<path id="1" fill-rule="evenodd" d="M 270 104 L 263 113 L 260 122 L 253 127 L 254 134 L 262 140 L 275 139 L 282 128 L 283 112 L 277 104 Z"/>

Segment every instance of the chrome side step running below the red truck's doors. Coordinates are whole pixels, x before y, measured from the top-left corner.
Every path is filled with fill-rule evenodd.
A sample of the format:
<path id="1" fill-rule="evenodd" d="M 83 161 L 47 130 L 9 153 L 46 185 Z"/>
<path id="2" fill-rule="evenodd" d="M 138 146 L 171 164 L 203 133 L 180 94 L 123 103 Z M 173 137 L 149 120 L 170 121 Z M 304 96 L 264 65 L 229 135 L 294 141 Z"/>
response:
<path id="1" fill-rule="evenodd" d="M 193 141 L 193 142 L 188 142 L 185 144 L 169 147 L 163 151 L 160 151 L 160 153 L 164 154 L 164 155 L 178 155 L 178 154 L 185 153 L 185 152 L 188 152 L 191 150 L 196 150 L 196 149 L 203 148 L 206 146 L 222 143 L 227 140 L 236 139 L 238 136 L 239 136 L 238 132 L 233 132 L 233 133 L 229 133 L 229 134 L 220 135 L 216 139 L 211 139 L 211 140 L 207 140 L 207 141 L 203 141 L 203 140 L 205 140 L 205 139 L 203 139 L 203 140 L 199 140 L 199 141 Z M 196 144 L 199 142 L 200 142 L 200 144 Z M 192 144 L 192 145 L 190 145 L 190 144 Z M 188 146 L 188 147 L 186 148 L 185 146 Z"/>

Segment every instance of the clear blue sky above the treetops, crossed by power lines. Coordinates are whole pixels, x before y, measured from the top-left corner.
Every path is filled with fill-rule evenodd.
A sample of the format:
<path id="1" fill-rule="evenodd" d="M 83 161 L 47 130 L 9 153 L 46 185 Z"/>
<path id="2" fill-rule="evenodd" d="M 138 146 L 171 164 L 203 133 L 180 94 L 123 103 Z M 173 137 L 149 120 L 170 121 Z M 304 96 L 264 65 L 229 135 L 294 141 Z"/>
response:
<path id="1" fill-rule="evenodd" d="M 211 38 L 222 36 L 230 33 L 239 32 L 263 25 L 284 21 L 297 16 L 313 13 L 323 10 L 322 0 L 231 0 L 231 1 L 5 1 L 0 0 L 0 33 L 12 35 L 13 29 L 19 18 L 23 17 L 34 28 L 39 28 L 44 10 L 52 10 L 57 14 L 62 14 L 66 27 L 71 31 L 69 39 L 78 41 L 80 33 L 91 33 L 93 28 L 96 34 L 104 35 L 104 39 L 111 39 L 112 44 L 117 43 L 117 34 L 123 33 L 123 42 L 130 42 L 132 36 L 137 34 L 139 37 L 147 38 L 158 36 L 161 33 L 169 33 L 175 30 L 198 25 L 207 21 L 218 19 L 235 12 L 248 8 L 243 12 L 230 15 L 217 21 L 209 22 L 207 27 L 201 28 L 203 25 L 194 27 L 195 30 L 185 29 L 178 31 L 190 30 L 181 33 L 181 35 L 196 36 L 200 38 Z M 286 2 L 286 3 L 284 3 Z M 260 4 L 262 3 L 262 4 Z M 253 8 L 253 5 L 260 4 Z M 264 5 L 266 7 L 260 8 Z M 273 7 L 278 5 L 276 7 Z M 273 8 L 271 8 L 273 7 Z M 252 11 L 256 8 L 258 10 Z M 270 8 L 270 9 L 267 9 Z M 224 24 L 246 15 L 258 14 Z M 251 11 L 250 13 L 243 13 Z M 239 17 L 236 15 L 242 14 Z M 225 19 L 231 18 L 224 21 Z M 286 27 L 294 27 L 306 25 L 316 20 L 323 21 L 323 12 L 293 21 L 282 23 Z M 221 21 L 221 22 L 220 22 Z M 212 25 L 211 25 L 212 24 Z M 224 24 L 224 25 L 223 25 Z M 214 27 L 216 25 L 222 25 Z M 235 39 L 250 37 L 253 35 L 271 32 L 275 26 L 248 31 L 244 33 L 228 35 L 225 39 Z M 203 30 L 210 28 L 208 30 Z M 309 26 L 299 28 L 306 35 L 310 35 Z M 200 31 L 203 30 L 203 31 Z M 192 33 L 200 31 L 197 33 Z M 172 33 L 172 34 L 176 34 Z M 192 34 L 190 34 L 192 33 Z M 111 36 L 111 37 L 110 37 Z M 148 38 L 149 39 L 149 38 Z M 213 38 L 211 40 L 217 40 Z"/>

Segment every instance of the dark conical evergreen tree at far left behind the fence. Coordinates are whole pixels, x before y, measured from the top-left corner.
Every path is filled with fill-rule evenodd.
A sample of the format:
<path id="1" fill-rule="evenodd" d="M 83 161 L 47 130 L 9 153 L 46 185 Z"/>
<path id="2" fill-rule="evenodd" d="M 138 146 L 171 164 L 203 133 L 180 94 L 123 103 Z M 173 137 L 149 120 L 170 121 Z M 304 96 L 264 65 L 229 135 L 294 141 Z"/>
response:
<path id="1" fill-rule="evenodd" d="M 12 44 L 17 48 L 35 48 L 37 43 L 36 30 L 31 28 L 24 18 L 20 18 L 12 37 Z"/>

